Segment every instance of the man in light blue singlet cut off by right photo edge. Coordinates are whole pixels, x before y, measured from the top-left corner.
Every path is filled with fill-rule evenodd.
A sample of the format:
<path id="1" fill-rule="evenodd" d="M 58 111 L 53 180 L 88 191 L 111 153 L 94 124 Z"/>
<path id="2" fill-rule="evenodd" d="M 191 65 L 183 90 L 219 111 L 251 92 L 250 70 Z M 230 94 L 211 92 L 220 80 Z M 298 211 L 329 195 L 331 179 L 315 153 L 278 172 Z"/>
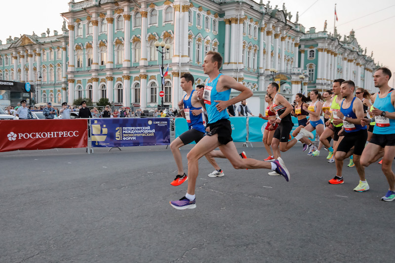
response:
<path id="1" fill-rule="evenodd" d="M 395 174 L 392 170 L 395 157 L 395 90 L 388 85 L 390 78 L 391 71 L 384 67 L 376 70 L 373 75 L 374 86 L 380 89 L 372 98 L 372 119 L 376 121 L 376 126 L 361 157 L 361 164 L 369 166 L 384 155 L 381 170 L 387 177 L 390 188 L 386 195 L 381 197 L 383 201 L 395 200 Z M 369 124 L 372 119 L 362 119 L 361 124 Z"/>

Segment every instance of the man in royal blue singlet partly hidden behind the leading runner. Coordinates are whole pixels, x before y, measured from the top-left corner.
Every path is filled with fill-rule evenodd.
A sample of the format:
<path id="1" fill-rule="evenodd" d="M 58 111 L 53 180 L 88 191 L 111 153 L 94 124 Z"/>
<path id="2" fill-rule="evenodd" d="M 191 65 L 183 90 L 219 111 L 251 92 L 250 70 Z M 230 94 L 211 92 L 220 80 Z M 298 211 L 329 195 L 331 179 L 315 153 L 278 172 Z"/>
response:
<path id="1" fill-rule="evenodd" d="M 181 134 L 170 144 L 170 149 L 178 169 L 176 178 L 170 183 L 172 186 L 179 186 L 188 180 L 188 176 L 184 173 L 180 148 L 193 141 L 198 143 L 201 138 L 203 138 L 205 132 L 205 127 L 203 125 L 204 115 L 202 114 L 203 108 L 197 100 L 197 92 L 193 89 L 194 81 L 194 76 L 189 73 L 182 75 L 180 79 L 181 88 L 187 94 L 184 96 L 184 99 L 178 103 L 178 107 L 181 115 L 187 120 L 189 130 Z M 224 172 L 218 166 L 214 158 L 211 157 L 210 153 L 207 153 L 205 156 L 215 168 L 214 172 L 211 174 L 215 174 L 215 177 L 224 176 Z M 211 174 L 209 174 L 209 176 Z"/>

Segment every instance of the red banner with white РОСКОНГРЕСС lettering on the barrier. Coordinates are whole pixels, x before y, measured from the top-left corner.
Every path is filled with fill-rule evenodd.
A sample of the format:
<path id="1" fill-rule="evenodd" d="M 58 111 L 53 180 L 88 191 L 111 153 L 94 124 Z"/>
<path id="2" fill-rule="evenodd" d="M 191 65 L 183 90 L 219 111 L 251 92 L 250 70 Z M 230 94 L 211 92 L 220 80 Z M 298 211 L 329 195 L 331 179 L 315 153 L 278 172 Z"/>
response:
<path id="1" fill-rule="evenodd" d="M 87 119 L 0 120 L 0 151 L 87 146 Z"/>

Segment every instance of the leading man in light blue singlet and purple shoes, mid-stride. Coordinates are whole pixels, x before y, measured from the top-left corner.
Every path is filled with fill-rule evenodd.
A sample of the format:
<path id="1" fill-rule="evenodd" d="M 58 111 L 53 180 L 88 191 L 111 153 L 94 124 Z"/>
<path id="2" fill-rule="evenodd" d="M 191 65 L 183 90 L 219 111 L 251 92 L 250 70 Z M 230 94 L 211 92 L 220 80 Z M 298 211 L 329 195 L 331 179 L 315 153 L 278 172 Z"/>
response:
<path id="1" fill-rule="evenodd" d="M 207 136 L 204 136 L 196 146 L 188 153 L 188 190 L 187 194 L 177 201 L 170 201 L 175 209 L 187 209 L 196 207 L 195 186 L 199 172 L 198 160 L 206 153 L 219 148 L 225 157 L 232 163 L 235 169 L 258 169 L 266 168 L 275 170 L 286 181 L 289 180 L 289 172 L 284 162 L 279 157 L 268 163 L 251 158 L 240 158 L 235 143 L 232 139 L 232 128 L 229 121 L 228 106 L 245 100 L 252 96 L 252 91 L 238 83 L 233 77 L 222 75 L 219 69 L 222 66 L 222 57 L 218 52 L 209 51 L 204 57 L 203 72 L 208 75 L 204 89 L 199 89 L 197 98 L 204 99 L 208 114 Z M 229 99 L 231 88 L 240 91 L 237 97 Z"/>

